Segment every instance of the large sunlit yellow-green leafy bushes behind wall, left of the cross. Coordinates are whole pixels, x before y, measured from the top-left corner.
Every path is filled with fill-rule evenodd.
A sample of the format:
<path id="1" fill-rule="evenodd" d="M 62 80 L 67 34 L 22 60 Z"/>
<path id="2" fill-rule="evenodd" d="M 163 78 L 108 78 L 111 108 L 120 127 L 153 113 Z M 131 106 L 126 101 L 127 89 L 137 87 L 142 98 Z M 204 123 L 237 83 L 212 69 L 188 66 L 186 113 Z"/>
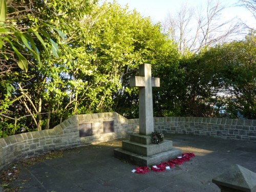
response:
<path id="1" fill-rule="evenodd" d="M 19 7 L 17 2 L 11 3 L 10 10 Z M 49 129 L 73 114 L 112 110 L 129 114 L 132 111 L 129 107 L 124 109 L 122 103 L 138 102 L 134 94 L 137 90 L 127 88 L 138 64 L 150 62 L 160 66 L 161 57 L 168 59 L 177 53 L 171 52 L 175 46 L 160 32 L 159 24 L 153 25 L 149 18 L 116 3 L 101 6 L 83 0 L 22 3 L 20 7 L 26 9 L 19 11 L 18 19 L 13 17 L 12 21 L 50 31 L 39 32 L 41 39 L 31 33 L 38 47 L 40 65 L 24 48 L 29 70 L 15 68 L 2 78 L 8 79 L 14 88 L 1 87 L 10 90 L 10 95 L 1 95 L 1 130 L 5 130 L 2 136 L 35 127 Z M 15 11 L 10 11 L 11 14 Z M 66 37 L 62 38 L 64 33 Z M 53 55 L 48 55 L 49 49 Z"/>

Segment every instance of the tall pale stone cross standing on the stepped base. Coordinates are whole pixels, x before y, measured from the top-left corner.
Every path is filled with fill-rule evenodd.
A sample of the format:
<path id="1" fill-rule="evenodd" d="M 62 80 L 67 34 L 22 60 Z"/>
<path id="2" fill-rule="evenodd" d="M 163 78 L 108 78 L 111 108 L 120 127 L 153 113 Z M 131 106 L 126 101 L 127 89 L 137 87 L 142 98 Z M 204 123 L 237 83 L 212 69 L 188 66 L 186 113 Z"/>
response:
<path id="1" fill-rule="evenodd" d="M 130 78 L 130 86 L 139 87 L 139 133 L 150 135 L 154 131 L 152 87 L 160 87 L 160 78 L 153 78 L 151 65 L 139 66 L 139 75 Z"/>

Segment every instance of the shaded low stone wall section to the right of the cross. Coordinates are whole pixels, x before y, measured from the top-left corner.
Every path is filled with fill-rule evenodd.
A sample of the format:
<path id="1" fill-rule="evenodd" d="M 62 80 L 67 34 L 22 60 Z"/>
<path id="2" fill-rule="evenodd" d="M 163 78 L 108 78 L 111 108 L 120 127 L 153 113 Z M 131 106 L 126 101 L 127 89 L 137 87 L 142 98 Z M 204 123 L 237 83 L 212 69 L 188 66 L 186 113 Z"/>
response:
<path id="1" fill-rule="evenodd" d="M 256 120 L 204 117 L 156 117 L 155 131 L 256 142 Z"/>

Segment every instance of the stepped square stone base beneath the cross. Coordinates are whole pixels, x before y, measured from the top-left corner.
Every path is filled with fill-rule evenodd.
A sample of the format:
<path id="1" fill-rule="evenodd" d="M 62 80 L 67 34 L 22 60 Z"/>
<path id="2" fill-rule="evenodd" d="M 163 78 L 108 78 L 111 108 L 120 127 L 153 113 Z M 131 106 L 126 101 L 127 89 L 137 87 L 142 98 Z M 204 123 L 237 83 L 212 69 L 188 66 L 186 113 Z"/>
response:
<path id="1" fill-rule="evenodd" d="M 165 139 L 152 144 L 151 136 L 133 134 L 130 140 L 122 141 L 122 148 L 114 150 L 114 157 L 138 166 L 151 166 L 177 158 L 181 150 L 173 147 L 173 141 Z"/>

